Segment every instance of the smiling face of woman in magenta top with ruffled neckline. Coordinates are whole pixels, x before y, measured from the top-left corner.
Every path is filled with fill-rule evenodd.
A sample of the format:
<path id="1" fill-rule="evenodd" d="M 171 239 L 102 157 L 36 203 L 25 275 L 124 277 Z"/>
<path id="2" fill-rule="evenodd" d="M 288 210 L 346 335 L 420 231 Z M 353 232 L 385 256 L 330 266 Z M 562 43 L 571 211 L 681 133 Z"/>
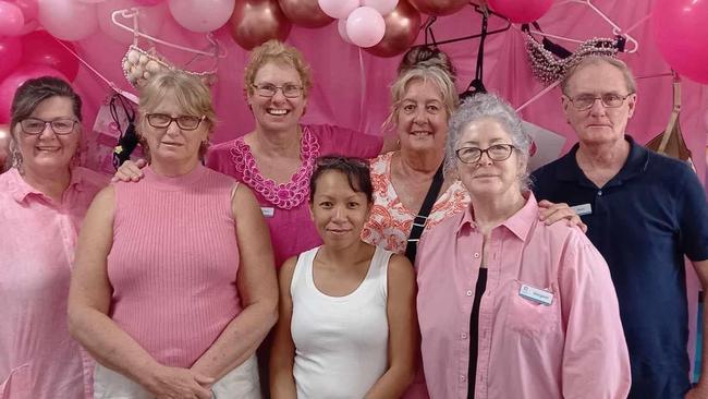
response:
<path id="1" fill-rule="evenodd" d="M 303 82 L 293 66 L 281 62 L 268 62 L 256 72 L 254 85 L 302 87 Z M 295 129 L 307 105 L 304 92 L 294 98 L 285 97 L 282 89 L 278 89 L 272 97 L 261 96 L 254 88 L 249 88 L 247 93 L 247 101 L 256 118 L 256 125 L 266 131 Z"/>

